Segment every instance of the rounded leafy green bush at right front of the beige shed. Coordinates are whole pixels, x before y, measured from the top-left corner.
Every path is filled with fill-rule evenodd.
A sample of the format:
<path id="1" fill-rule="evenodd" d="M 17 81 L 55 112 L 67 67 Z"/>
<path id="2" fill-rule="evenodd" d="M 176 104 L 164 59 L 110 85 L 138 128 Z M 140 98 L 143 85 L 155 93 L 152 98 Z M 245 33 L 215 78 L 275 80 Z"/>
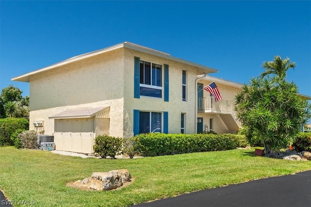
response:
<path id="1" fill-rule="evenodd" d="M 121 155 L 122 139 L 107 135 L 98 136 L 95 138 L 93 148 L 95 155 L 100 155 L 102 158 L 106 158 L 107 156 L 115 158 L 116 155 Z"/>

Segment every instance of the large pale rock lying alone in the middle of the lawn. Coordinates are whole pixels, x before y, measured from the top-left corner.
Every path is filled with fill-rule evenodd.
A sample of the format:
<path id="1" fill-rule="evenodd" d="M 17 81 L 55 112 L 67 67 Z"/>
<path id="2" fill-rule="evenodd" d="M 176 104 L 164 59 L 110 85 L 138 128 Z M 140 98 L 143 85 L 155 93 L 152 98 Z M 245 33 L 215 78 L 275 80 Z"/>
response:
<path id="1" fill-rule="evenodd" d="M 108 191 L 119 188 L 123 183 L 131 180 L 131 174 L 126 169 L 113 170 L 107 172 L 94 172 L 91 177 L 77 180 L 74 186 L 94 189 L 98 191 Z"/>

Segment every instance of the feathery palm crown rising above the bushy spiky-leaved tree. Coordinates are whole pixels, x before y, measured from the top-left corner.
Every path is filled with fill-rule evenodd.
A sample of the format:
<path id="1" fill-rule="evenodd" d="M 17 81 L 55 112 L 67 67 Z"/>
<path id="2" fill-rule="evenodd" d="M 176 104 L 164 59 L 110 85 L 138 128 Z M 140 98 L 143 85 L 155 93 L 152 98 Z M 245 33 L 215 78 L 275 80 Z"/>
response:
<path id="1" fill-rule="evenodd" d="M 286 72 L 288 69 L 293 68 L 296 66 L 296 63 L 291 62 L 289 58 L 281 59 L 280 56 L 275 56 L 274 61 L 263 62 L 261 65 L 262 68 L 266 70 L 261 73 L 261 77 L 263 78 L 269 74 L 275 74 L 277 78 L 280 80 L 286 77 Z"/>

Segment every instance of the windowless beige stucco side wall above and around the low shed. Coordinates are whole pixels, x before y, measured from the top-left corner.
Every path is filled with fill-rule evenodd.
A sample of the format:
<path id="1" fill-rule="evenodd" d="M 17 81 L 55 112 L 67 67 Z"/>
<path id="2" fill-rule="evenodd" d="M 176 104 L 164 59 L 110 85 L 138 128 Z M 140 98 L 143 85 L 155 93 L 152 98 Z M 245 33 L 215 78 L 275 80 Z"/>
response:
<path id="1" fill-rule="evenodd" d="M 66 109 L 110 106 L 111 136 L 123 136 L 123 48 L 54 68 L 30 77 L 30 129 L 44 121 L 45 134 L 54 133 L 49 116 Z"/>

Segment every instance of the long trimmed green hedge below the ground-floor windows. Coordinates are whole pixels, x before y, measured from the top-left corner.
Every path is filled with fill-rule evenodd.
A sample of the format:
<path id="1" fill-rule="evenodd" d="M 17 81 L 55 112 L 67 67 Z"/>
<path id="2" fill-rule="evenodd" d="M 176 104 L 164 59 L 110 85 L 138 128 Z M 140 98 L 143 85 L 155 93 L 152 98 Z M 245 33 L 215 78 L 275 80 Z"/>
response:
<path id="1" fill-rule="evenodd" d="M 134 142 L 144 156 L 228 150 L 248 145 L 243 135 L 235 134 L 150 133 L 136 135 Z"/>

